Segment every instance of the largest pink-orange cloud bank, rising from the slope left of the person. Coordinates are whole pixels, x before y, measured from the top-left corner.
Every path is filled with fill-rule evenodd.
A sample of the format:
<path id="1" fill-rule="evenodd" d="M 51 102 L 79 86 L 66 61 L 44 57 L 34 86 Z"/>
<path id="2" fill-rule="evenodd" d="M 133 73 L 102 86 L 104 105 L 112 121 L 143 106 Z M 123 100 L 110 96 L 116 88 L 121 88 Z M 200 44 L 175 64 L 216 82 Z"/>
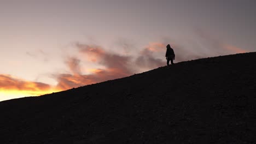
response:
<path id="1" fill-rule="evenodd" d="M 79 52 L 89 59 L 90 62 L 103 65 L 104 69 L 93 69 L 91 74 L 83 75 L 80 73 L 80 60 L 69 58 L 66 65 L 71 69 L 72 74 L 54 75 L 58 84 L 58 89 L 69 89 L 89 85 L 91 83 L 106 80 L 118 79 L 132 74 L 130 56 L 122 56 L 117 53 L 105 51 L 100 46 L 95 45 L 76 45 Z M 79 73 L 78 73 L 79 72 Z"/>

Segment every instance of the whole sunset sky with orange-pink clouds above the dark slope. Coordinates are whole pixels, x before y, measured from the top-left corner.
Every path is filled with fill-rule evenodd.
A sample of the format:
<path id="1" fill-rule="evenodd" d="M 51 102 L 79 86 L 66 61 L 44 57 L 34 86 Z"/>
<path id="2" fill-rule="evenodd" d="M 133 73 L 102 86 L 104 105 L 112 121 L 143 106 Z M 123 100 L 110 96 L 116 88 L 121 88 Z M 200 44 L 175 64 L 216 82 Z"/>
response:
<path id="1" fill-rule="evenodd" d="M 0 101 L 256 51 L 253 0 L 1 0 Z"/>

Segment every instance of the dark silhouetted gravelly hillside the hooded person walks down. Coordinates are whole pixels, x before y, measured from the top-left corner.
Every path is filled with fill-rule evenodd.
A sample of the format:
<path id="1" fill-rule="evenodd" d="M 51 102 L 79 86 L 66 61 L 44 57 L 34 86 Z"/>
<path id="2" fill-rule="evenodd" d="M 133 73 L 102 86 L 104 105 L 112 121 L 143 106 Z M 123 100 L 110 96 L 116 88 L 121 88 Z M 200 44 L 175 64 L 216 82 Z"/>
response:
<path id="1" fill-rule="evenodd" d="M 2 101 L 0 143 L 255 143 L 256 53 Z"/>

